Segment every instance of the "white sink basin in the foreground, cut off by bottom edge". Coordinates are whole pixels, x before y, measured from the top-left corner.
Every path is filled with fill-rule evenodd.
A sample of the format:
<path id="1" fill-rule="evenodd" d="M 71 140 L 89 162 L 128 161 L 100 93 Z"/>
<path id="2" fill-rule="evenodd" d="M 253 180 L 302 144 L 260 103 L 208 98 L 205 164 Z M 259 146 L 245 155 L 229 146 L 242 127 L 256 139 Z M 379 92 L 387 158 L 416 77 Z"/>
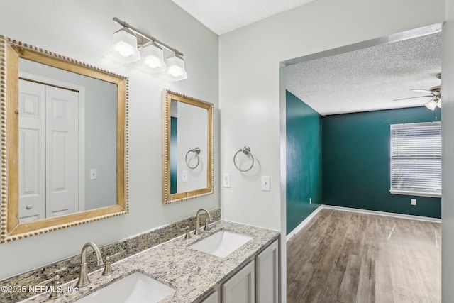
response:
<path id="1" fill-rule="evenodd" d="M 77 303 L 142 303 L 160 302 L 169 294 L 175 292 L 167 285 L 134 272 L 132 275 L 123 277 L 111 285 L 89 294 L 87 297 L 77 300 Z"/>

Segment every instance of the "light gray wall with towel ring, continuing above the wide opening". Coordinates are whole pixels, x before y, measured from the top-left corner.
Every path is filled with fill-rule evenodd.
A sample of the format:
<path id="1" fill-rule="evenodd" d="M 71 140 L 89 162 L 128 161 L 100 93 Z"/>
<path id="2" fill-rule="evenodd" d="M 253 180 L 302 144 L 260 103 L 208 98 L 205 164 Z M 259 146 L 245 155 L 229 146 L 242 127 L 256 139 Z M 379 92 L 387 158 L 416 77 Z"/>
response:
<path id="1" fill-rule="evenodd" d="M 231 172 L 231 188 L 221 189 L 223 218 L 285 234 L 285 189 L 279 184 L 285 181 L 280 62 L 444 20 L 444 1 L 316 0 L 221 35 L 221 172 Z M 260 161 L 252 177 L 240 174 L 231 160 L 243 145 L 250 145 Z M 260 191 L 260 175 L 270 176 L 270 192 Z M 284 241 L 281 249 L 286 250 Z M 285 268 L 285 258 L 281 265 Z M 282 290 L 285 281 L 283 275 Z"/>

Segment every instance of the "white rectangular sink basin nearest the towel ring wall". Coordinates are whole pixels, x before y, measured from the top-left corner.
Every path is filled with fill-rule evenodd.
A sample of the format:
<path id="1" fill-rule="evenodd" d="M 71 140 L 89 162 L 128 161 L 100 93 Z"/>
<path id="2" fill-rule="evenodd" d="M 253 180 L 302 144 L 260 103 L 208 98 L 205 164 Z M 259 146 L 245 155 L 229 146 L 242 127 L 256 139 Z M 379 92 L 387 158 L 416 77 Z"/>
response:
<path id="1" fill-rule="evenodd" d="M 217 233 L 213 233 L 211 236 L 192 244 L 189 248 L 209 253 L 210 255 L 216 255 L 216 257 L 226 258 L 227 255 L 252 239 L 253 237 L 245 236 L 240 233 L 218 231 Z"/>

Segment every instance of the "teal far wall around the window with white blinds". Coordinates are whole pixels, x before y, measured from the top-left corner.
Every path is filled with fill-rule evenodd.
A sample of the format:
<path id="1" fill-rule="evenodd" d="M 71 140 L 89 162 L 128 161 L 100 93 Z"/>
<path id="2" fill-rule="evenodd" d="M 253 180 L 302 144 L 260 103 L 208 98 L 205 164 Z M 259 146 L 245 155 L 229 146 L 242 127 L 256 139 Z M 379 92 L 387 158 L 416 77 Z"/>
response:
<path id="1" fill-rule="evenodd" d="M 389 125 L 434 117 L 423 106 L 323 116 L 323 204 L 441 218 L 441 198 L 389 193 Z"/>

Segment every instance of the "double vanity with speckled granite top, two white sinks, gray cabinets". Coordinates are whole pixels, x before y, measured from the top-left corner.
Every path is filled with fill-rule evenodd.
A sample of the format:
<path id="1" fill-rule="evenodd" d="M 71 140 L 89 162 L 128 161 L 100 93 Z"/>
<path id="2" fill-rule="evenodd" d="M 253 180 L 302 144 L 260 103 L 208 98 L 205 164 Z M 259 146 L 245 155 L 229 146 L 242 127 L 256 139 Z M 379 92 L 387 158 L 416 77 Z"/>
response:
<path id="1" fill-rule="evenodd" d="M 189 234 L 113 263 L 111 275 L 103 268 L 89 273 L 77 291 L 73 280 L 57 299 L 45 293 L 24 302 L 255 302 L 260 289 L 277 296 L 277 231 L 216 221 Z"/>

